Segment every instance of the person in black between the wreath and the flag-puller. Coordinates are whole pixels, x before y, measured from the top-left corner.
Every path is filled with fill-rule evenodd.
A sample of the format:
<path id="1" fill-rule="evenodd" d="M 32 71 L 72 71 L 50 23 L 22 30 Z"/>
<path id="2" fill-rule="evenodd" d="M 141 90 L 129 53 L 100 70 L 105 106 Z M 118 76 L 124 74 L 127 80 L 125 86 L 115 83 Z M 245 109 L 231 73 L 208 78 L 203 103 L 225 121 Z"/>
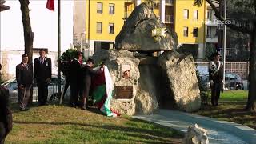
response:
<path id="1" fill-rule="evenodd" d="M 70 97 L 70 106 L 78 106 L 78 97 L 81 93 L 81 83 L 82 83 L 82 76 L 81 76 L 81 65 L 82 65 L 82 53 L 77 53 L 77 58 L 74 58 L 73 61 L 70 63 L 70 90 L 71 90 L 71 97 Z"/>

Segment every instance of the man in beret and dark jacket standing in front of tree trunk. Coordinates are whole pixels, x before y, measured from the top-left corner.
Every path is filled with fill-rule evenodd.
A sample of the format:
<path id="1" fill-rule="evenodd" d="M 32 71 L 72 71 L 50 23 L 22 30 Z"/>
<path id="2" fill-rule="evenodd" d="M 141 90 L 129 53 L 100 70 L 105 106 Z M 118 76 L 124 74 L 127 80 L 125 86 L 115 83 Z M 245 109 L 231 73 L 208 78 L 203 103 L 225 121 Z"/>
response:
<path id="1" fill-rule="evenodd" d="M 22 54 L 22 63 L 16 66 L 16 79 L 18 83 L 18 102 L 20 110 L 28 110 L 30 90 L 33 82 L 32 66 L 28 65 L 27 54 Z"/>

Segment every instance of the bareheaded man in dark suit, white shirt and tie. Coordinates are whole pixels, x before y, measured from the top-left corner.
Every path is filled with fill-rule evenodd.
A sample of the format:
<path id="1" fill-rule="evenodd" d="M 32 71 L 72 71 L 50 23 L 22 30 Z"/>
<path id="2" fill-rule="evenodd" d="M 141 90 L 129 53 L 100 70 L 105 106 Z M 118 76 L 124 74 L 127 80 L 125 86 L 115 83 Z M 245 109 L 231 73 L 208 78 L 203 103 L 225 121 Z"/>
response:
<path id="1" fill-rule="evenodd" d="M 34 59 L 34 78 L 38 85 L 39 106 L 48 105 L 48 85 L 51 78 L 51 59 L 46 58 L 46 51 L 40 50 L 40 57 Z"/>

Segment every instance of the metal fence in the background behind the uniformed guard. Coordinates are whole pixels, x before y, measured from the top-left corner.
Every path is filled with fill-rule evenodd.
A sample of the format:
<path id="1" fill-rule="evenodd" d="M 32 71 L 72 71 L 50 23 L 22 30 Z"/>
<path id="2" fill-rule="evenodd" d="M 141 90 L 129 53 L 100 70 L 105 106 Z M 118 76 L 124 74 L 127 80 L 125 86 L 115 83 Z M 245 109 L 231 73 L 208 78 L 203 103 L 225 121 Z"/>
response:
<path id="1" fill-rule="evenodd" d="M 209 66 L 208 62 L 195 62 L 197 66 Z M 238 74 L 243 79 L 248 79 L 249 62 L 226 62 L 226 72 Z"/>

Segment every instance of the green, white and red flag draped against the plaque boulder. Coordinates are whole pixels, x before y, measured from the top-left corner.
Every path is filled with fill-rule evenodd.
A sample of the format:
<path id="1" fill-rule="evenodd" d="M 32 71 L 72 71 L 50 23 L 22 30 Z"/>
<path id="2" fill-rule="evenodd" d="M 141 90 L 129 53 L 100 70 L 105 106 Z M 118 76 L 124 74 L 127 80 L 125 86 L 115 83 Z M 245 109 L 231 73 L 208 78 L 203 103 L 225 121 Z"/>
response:
<path id="1" fill-rule="evenodd" d="M 94 70 L 98 70 L 99 67 Z M 112 92 L 114 90 L 113 82 L 110 76 L 110 71 L 104 66 L 104 72 L 96 75 L 92 82 L 92 96 L 96 106 L 109 117 L 116 117 L 120 114 L 110 109 L 110 101 L 112 99 Z"/>

